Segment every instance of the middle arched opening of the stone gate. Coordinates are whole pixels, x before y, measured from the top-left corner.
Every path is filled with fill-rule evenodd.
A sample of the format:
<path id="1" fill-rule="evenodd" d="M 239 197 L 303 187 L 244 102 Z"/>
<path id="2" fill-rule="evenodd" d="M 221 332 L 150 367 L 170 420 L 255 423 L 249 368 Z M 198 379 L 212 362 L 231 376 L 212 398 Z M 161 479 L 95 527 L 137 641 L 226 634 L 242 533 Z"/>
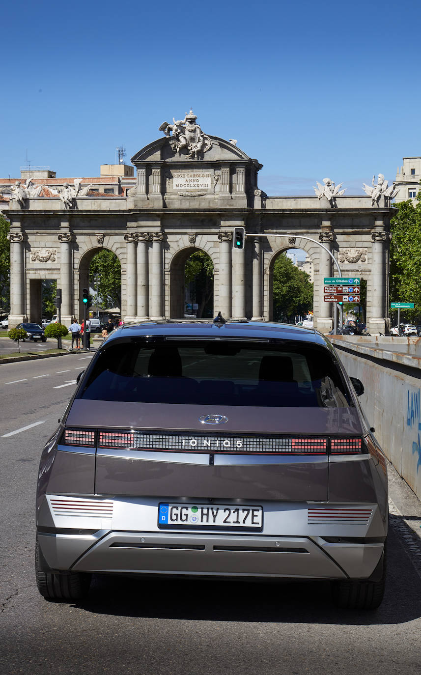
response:
<path id="1" fill-rule="evenodd" d="M 170 317 L 212 317 L 213 284 L 213 262 L 204 250 L 192 247 L 175 254 L 170 271 Z"/>

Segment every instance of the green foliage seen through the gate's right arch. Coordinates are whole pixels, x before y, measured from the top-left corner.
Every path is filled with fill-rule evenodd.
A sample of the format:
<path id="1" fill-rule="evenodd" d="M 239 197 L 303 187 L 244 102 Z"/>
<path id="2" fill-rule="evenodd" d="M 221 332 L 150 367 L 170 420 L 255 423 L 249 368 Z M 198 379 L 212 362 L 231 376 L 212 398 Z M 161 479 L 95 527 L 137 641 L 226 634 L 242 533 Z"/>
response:
<path id="1" fill-rule="evenodd" d="M 308 274 L 281 253 L 273 266 L 273 318 L 291 322 L 312 308 L 313 284 Z"/>

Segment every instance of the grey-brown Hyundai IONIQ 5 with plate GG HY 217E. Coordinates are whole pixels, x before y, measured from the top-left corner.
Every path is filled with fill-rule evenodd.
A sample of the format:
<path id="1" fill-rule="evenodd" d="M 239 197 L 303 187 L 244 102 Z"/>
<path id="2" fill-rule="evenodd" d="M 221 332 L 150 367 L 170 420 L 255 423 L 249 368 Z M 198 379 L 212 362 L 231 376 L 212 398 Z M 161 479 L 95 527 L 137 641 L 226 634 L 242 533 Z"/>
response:
<path id="1" fill-rule="evenodd" d="M 115 329 L 45 445 L 36 580 L 74 601 L 94 572 L 385 586 L 385 457 L 331 343 L 278 323 Z"/>

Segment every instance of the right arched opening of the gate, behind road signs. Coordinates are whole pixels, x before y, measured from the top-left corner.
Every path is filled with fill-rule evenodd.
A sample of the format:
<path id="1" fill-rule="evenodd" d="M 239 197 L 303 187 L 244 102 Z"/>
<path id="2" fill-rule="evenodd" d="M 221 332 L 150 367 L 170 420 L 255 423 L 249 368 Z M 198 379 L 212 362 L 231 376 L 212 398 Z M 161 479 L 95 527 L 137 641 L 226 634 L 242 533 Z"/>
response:
<path id="1" fill-rule="evenodd" d="M 273 257 L 269 271 L 269 318 L 297 323 L 312 317 L 314 268 L 301 248 L 289 248 Z"/>

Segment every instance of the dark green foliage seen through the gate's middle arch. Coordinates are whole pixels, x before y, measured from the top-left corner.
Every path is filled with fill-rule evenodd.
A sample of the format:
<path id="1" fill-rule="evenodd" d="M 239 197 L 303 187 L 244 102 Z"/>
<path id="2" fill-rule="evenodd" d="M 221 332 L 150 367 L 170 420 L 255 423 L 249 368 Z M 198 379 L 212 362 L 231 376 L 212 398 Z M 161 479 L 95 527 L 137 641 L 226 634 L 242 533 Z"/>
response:
<path id="1" fill-rule="evenodd" d="M 213 262 L 204 251 L 195 251 L 186 262 L 184 283 L 198 303 L 196 317 L 211 317 L 213 312 Z"/>

